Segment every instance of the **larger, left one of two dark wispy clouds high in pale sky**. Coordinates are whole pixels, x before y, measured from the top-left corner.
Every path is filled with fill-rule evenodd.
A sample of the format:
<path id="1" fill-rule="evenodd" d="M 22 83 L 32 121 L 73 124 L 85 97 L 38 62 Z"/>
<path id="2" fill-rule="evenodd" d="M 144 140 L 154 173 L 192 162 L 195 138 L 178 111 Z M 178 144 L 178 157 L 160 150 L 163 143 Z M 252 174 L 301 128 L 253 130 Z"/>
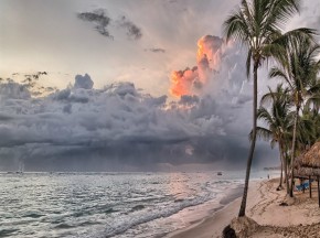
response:
<path id="1" fill-rule="evenodd" d="M 108 26 L 111 22 L 111 19 L 106 15 L 106 12 L 103 9 L 94 10 L 93 12 L 81 12 L 77 13 L 77 17 L 83 21 L 88 21 L 95 23 L 95 29 L 104 36 L 114 39 L 109 33 Z"/>

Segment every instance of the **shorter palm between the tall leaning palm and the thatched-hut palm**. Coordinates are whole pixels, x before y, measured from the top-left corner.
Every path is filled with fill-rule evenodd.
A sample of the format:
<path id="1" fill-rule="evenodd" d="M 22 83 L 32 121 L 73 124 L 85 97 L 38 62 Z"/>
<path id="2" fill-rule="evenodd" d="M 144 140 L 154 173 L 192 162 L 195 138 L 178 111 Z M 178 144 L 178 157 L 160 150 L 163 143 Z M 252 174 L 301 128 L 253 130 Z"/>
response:
<path id="1" fill-rule="evenodd" d="M 289 192 L 289 184 L 287 183 L 288 172 L 287 172 L 287 160 L 285 156 L 285 143 L 288 134 L 289 125 L 289 97 L 288 88 L 282 88 L 282 85 L 278 85 L 276 90 L 273 91 L 269 88 L 269 93 L 263 96 L 262 102 L 265 104 L 268 100 L 271 101 L 270 111 L 265 107 L 260 107 L 257 112 L 257 118 L 262 119 L 268 128 L 257 127 L 257 136 L 270 140 L 271 148 L 278 143 L 280 162 L 281 162 L 281 177 L 278 188 L 282 187 L 282 170 L 285 170 L 287 193 Z"/>

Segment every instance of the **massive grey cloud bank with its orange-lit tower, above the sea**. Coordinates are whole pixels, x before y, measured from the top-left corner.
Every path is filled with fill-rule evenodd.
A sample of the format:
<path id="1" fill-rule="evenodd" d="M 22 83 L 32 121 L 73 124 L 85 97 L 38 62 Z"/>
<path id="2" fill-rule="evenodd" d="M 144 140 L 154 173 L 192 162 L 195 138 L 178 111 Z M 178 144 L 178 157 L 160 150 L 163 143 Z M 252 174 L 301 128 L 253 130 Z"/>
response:
<path id="1" fill-rule="evenodd" d="M 157 170 L 163 163 L 217 162 L 238 166 L 246 158 L 250 128 L 252 86 L 244 54 L 206 35 L 199 41 L 196 62 L 193 68 L 173 72 L 177 101 L 143 94 L 129 82 L 96 89 L 88 74 L 36 99 L 18 83 L 0 84 L 0 91 L 13 91 L 1 95 L 0 158 L 15 158 L 11 163 L 0 160 L 0 166 L 17 167 L 21 161 L 26 170 L 124 170 L 124 164 Z"/>

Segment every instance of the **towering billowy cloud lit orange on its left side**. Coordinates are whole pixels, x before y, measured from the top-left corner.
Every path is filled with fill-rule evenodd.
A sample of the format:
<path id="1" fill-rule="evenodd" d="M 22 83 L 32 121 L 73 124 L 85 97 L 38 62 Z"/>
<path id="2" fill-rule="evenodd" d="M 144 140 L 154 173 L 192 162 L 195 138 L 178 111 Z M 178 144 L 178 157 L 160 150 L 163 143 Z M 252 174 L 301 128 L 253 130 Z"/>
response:
<path id="1" fill-rule="evenodd" d="M 192 69 L 186 67 L 184 71 L 174 71 L 171 74 L 170 94 L 175 97 L 183 95 L 204 95 L 226 89 L 230 85 L 237 84 L 239 90 L 244 77 L 238 48 L 227 45 L 218 36 L 204 35 L 198 41 L 196 66 Z M 243 52 L 242 52 L 243 53 Z M 239 73 L 232 75 L 233 72 Z"/>

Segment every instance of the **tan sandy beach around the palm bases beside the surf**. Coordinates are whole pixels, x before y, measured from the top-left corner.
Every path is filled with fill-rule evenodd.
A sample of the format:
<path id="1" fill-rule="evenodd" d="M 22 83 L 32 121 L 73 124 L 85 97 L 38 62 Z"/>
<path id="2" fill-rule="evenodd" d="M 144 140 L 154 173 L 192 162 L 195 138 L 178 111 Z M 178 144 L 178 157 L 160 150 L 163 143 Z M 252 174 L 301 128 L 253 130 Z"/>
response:
<path id="1" fill-rule="evenodd" d="M 295 199 L 289 202 L 285 201 L 285 191 L 276 191 L 278 184 L 278 178 L 249 184 L 246 215 L 260 225 L 249 237 L 320 237 L 317 182 L 312 185 L 312 198 L 309 198 L 309 191 L 296 192 Z M 289 206 L 280 206 L 284 201 L 288 202 Z M 241 198 L 236 198 L 203 221 L 170 234 L 168 237 L 221 237 L 223 228 L 237 216 L 239 204 Z"/>

